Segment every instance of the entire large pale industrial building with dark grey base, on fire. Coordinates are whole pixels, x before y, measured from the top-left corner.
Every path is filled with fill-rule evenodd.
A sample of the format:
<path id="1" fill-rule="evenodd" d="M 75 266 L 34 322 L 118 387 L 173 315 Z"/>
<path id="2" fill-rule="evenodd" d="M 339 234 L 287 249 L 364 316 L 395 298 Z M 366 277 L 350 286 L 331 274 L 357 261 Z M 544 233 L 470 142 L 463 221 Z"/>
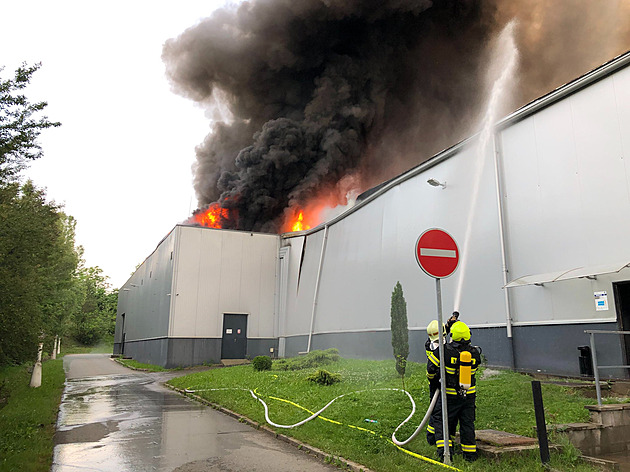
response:
<path id="1" fill-rule="evenodd" d="M 410 360 L 424 362 L 436 287 L 415 244 L 442 228 L 460 251 L 444 311 L 460 311 L 488 364 L 579 374 L 585 330 L 630 330 L 629 64 L 539 98 L 312 230 L 176 226 L 121 288 L 115 352 L 167 367 L 329 347 L 387 359 L 400 281 Z M 629 349 L 597 338 L 602 365 L 630 364 Z"/>

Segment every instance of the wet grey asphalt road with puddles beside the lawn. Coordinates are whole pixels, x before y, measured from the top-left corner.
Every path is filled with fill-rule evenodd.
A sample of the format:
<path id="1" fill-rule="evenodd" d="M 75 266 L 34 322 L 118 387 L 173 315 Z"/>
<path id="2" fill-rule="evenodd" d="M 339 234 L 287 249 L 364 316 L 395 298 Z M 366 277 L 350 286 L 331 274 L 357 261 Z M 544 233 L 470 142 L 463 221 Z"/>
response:
<path id="1" fill-rule="evenodd" d="M 181 372 L 101 354 L 67 355 L 64 368 L 53 472 L 339 470 L 161 385 Z"/>

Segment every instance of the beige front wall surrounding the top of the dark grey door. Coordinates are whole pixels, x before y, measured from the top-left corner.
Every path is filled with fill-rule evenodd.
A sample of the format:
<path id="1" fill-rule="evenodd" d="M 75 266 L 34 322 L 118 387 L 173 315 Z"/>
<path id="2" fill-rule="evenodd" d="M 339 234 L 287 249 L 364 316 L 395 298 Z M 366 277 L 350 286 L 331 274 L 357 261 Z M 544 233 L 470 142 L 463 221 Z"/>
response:
<path id="1" fill-rule="evenodd" d="M 179 226 L 171 336 L 221 337 L 224 313 L 244 313 L 248 337 L 272 337 L 278 236 Z"/>

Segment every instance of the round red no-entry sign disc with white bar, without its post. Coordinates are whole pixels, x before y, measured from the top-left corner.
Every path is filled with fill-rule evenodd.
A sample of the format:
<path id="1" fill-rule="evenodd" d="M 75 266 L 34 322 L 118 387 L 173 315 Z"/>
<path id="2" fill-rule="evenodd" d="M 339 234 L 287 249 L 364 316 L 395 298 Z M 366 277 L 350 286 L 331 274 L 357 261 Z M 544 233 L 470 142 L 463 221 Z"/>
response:
<path id="1" fill-rule="evenodd" d="M 420 268 L 431 277 L 448 277 L 459 264 L 457 243 L 446 231 L 428 229 L 416 242 L 416 260 Z"/>

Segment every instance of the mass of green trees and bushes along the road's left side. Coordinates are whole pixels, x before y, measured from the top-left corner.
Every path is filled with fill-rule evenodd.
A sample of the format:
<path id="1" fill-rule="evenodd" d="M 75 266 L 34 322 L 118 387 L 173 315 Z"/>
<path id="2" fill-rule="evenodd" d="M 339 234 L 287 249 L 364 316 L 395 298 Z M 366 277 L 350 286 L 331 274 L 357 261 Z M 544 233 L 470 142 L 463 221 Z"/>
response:
<path id="1" fill-rule="evenodd" d="M 40 342 L 52 352 L 57 336 L 94 346 L 116 317 L 117 290 L 85 265 L 76 220 L 23 176 L 43 155 L 40 134 L 61 126 L 24 93 L 40 67 L 4 78 L 0 65 L 0 366 L 33 362 Z"/>

